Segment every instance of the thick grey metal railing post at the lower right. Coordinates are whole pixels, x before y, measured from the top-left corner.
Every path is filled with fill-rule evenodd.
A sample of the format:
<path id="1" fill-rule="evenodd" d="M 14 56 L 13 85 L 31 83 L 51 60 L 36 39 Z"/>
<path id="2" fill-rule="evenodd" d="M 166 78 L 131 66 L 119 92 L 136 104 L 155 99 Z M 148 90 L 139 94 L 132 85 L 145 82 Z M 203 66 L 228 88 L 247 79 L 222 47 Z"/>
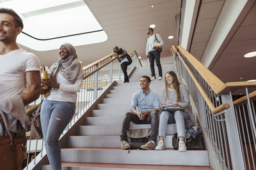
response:
<path id="1" fill-rule="evenodd" d="M 237 129 L 236 122 L 236 113 L 234 110 L 234 105 L 232 101 L 232 95 L 222 95 L 221 96 L 222 103 L 228 103 L 230 108 L 225 111 L 225 122 L 227 129 L 227 137 L 228 137 L 228 148 L 230 150 L 230 157 L 232 162 L 232 167 L 234 170 L 244 170 L 244 159 L 243 152 L 241 148 L 241 143 L 239 140 L 239 132 Z"/>

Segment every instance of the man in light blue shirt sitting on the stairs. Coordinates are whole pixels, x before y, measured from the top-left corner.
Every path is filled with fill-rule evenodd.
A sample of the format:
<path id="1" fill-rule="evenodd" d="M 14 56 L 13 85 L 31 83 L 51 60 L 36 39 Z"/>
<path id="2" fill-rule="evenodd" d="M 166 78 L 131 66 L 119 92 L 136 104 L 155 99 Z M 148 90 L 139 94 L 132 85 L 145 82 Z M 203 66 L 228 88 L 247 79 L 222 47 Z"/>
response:
<path id="1" fill-rule="evenodd" d="M 150 78 L 148 76 L 141 76 L 140 87 L 141 90 L 134 93 L 132 96 L 131 112 L 126 113 L 122 125 L 121 134 L 121 148 L 123 150 L 131 148 L 127 143 L 127 130 L 130 123 L 134 124 L 151 124 L 151 134 L 149 141 L 142 145 L 141 148 L 145 150 L 154 150 L 156 148 L 156 138 L 158 129 L 158 112 L 160 109 L 159 97 L 156 92 L 149 89 Z M 136 110 L 136 108 L 140 108 Z"/>

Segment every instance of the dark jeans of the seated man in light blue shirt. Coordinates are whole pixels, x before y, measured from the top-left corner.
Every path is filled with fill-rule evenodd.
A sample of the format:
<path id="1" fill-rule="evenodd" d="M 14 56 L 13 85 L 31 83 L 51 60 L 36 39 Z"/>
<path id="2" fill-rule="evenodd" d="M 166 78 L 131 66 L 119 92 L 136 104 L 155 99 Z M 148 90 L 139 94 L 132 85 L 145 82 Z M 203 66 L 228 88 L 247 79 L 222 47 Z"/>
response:
<path id="1" fill-rule="evenodd" d="M 130 127 L 130 123 L 133 122 L 134 124 L 151 124 L 151 134 L 149 139 L 156 142 L 156 137 L 158 133 L 158 113 L 153 111 L 150 115 L 147 115 L 145 120 L 140 120 L 137 115 L 128 112 L 125 115 L 122 132 L 121 132 L 121 141 L 127 141 L 127 130 Z"/>

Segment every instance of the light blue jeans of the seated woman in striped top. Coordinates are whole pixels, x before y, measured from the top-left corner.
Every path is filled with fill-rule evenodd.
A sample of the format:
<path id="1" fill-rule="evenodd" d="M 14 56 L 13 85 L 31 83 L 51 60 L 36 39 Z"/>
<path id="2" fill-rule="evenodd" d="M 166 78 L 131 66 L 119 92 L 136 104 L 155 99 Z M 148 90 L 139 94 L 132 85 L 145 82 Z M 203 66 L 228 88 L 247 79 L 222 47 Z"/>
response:
<path id="1" fill-rule="evenodd" d="M 174 114 L 178 137 L 181 137 L 181 136 L 185 137 L 185 122 L 184 122 L 184 120 L 189 120 L 190 115 L 189 115 L 189 113 L 186 113 L 184 111 L 179 111 L 179 110 L 175 111 L 175 113 L 171 113 L 169 111 L 163 111 L 161 113 L 160 120 L 159 120 L 158 136 L 165 137 L 168 118 L 170 117 L 171 114 Z"/>

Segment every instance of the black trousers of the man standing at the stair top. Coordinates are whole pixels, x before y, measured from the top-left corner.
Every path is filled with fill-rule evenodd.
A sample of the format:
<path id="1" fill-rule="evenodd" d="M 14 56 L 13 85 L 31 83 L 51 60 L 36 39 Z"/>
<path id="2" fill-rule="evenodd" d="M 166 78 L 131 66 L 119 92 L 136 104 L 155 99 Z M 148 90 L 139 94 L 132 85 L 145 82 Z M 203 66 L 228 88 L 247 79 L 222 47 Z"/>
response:
<path id="1" fill-rule="evenodd" d="M 158 68 L 159 76 L 163 77 L 162 66 L 161 66 L 161 63 L 160 63 L 160 52 L 159 52 L 159 50 L 148 52 L 148 60 L 149 60 L 149 63 L 150 63 L 151 76 L 156 77 L 155 62 L 154 62 L 154 60 L 156 60 L 156 66 Z"/>

